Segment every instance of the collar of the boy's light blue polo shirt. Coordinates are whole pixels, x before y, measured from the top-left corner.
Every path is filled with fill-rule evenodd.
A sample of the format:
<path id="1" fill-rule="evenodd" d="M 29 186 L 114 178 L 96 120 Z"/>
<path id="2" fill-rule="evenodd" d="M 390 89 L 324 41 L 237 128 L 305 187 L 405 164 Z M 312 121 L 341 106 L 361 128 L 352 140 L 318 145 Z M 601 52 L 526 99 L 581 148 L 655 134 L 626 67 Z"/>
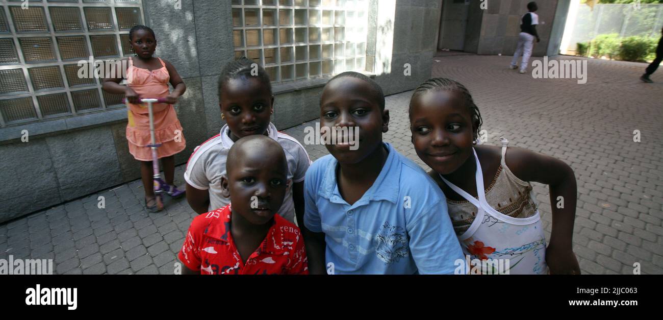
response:
<path id="1" fill-rule="evenodd" d="M 390 143 L 383 142 L 389 151 L 387 161 L 383 165 L 380 174 L 373 182 L 373 185 L 364 193 L 363 197 L 359 199 L 353 206 L 366 204 L 371 200 L 387 200 L 393 203 L 398 203 L 398 190 L 400 187 L 400 171 L 402 161 L 399 157 L 398 151 L 394 149 Z M 338 191 L 338 182 L 336 180 L 336 167 L 338 161 L 333 158 L 331 165 L 327 167 L 324 179 L 322 181 L 322 188 L 318 191 L 318 195 L 329 199 L 331 202 L 347 203 L 341 197 Z"/>

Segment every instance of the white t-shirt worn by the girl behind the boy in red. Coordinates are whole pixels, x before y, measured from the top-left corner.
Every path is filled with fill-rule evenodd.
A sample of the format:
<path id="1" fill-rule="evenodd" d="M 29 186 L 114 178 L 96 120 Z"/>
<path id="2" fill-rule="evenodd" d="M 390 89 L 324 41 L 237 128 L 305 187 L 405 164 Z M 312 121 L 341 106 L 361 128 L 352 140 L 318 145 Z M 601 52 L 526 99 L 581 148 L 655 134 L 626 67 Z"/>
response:
<path id="1" fill-rule="evenodd" d="M 297 139 L 278 132 L 271 122 L 268 129 L 269 137 L 276 140 L 283 147 L 288 161 L 288 188 L 286 189 L 286 198 L 278 209 L 278 214 L 286 220 L 296 223 L 294 222 L 296 219 L 294 218 L 294 202 L 292 202 L 292 184 L 304 181 L 311 159 L 308 157 L 304 146 Z M 196 189 L 210 190 L 210 206 L 208 208 L 210 211 L 223 208 L 230 202 L 229 198 L 221 195 L 221 176 L 225 175 L 225 159 L 230 147 L 235 143 L 230 139 L 229 131 L 228 125 L 223 125 L 221 133 L 196 147 L 186 164 L 186 171 L 184 172 L 186 183 Z"/>

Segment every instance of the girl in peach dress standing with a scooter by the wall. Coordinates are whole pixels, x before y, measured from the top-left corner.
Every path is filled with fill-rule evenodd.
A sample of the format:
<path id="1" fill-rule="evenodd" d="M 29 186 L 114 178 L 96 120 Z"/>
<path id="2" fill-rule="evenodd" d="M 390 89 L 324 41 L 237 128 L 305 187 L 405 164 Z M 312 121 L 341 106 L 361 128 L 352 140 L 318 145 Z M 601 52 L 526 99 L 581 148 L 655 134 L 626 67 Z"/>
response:
<path id="1" fill-rule="evenodd" d="M 117 78 L 105 78 L 103 90 L 112 94 L 125 94 L 127 98 L 129 152 L 135 159 L 141 161 L 141 178 L 143 187 L 145 187 L 145 208 L 155 212 L 158 209 L 152 188 L 152 153 L 150 147 L 147 146 L 151 143 L 149 114 L 147 105 L 141 104 L 140 100 L 164 98 L 166 101 L 166 103 L 153 104 L 154 137 L 156 143 L 161 144 L 157 149 L 157 154 L 161 159 L 166 178 L 167 185 L 164 188 L 171 197 L 180 197 L 184 191 L 180 191 L 174 185 L 174 155 L 184 150 L 186 141 L 173 104 L 177 102 L 179 96 L 184 94 L 186 85 L 169 62 L 152 57 L 156 48 L 156 39 L 152 29 L 143 25 L 133 27 L 129 31 L 129 41 L 136 54 L 135 59 L 129 58 L 127 69 L 124 73 L 116 72 Z M 123 79 L 123 74 L 126 75 L 127 86 L 119 84 Z M 174 88 L 170 93 L 168 92 L 168 82 Z"/>

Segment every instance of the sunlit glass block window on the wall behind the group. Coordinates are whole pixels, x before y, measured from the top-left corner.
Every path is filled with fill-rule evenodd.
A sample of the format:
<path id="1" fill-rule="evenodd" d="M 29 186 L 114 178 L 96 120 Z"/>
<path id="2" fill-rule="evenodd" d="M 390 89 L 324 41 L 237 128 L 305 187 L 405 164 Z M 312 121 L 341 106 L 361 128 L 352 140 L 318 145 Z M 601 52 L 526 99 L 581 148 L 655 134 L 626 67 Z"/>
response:
<path id="1" fill-rule="evenodd" d="M 272 82 L 365 70 L 368 0 L 233 0 L 235 59 Z"/>

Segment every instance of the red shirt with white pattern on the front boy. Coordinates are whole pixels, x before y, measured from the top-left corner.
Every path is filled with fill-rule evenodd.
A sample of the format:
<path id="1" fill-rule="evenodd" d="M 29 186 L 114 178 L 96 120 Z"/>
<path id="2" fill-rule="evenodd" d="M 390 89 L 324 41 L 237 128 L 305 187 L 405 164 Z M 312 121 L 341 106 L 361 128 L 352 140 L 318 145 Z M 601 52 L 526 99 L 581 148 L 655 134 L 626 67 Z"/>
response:
<path id="1" fill-rule="evenodd" d="M 200 274 L 308 274 L 302 234 L 278 214 L 245 264 L 230 233 L 230 208 L 200 214 L 191 222 L 178 254 L 187 268 Z"/>

